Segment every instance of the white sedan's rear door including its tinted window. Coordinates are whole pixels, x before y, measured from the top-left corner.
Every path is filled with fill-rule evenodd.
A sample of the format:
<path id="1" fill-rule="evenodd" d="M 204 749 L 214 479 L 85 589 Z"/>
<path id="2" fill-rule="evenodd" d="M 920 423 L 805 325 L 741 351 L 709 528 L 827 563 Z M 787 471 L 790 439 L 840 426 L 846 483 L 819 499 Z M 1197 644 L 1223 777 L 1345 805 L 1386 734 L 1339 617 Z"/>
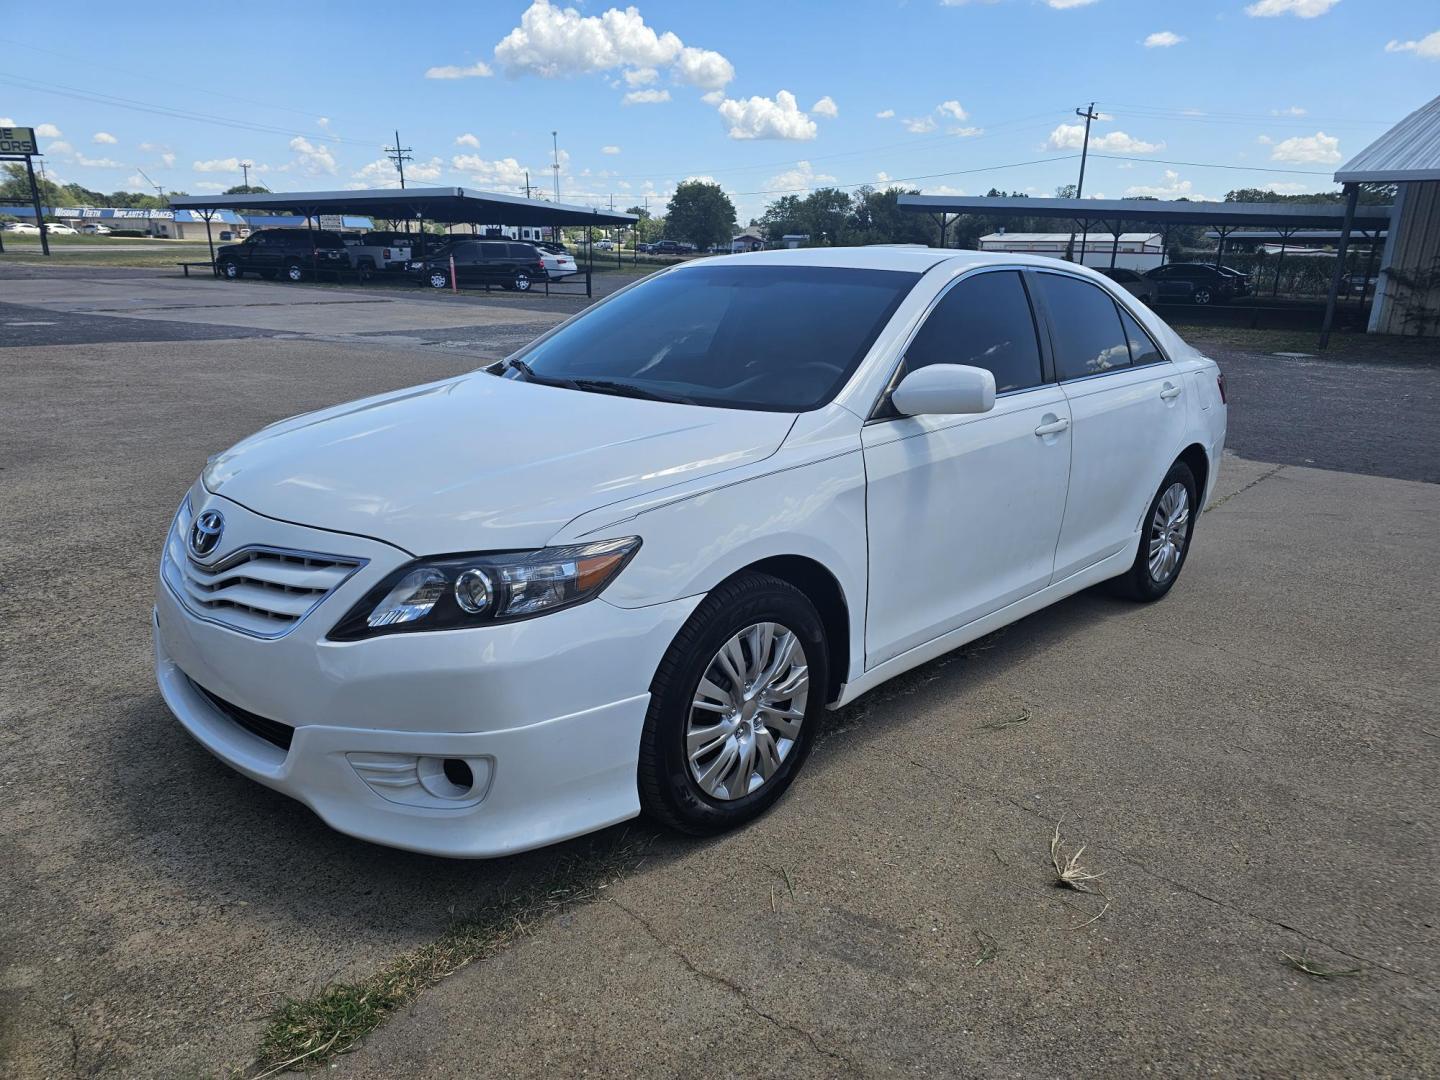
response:
<path id="1" fill-rule="evenodd" d="M 1109 291 L 1060 271 L 1034 278 L 1071 419 L 1061 580 L 1135 550 L 1140 518 L 1184 449 L 1185 380 Z"/>

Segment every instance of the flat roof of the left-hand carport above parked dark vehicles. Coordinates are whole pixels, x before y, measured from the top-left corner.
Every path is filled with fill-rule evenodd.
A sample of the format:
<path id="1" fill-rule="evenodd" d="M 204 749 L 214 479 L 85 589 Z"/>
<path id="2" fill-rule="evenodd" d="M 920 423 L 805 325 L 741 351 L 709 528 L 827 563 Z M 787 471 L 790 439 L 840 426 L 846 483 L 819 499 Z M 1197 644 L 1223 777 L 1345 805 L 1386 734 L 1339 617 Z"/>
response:
<path id="1" fill-rule="evenodd" d="M 268 194 L 171 196 L 186 210 L 348 213 L 367 217 L 423 217 L 444 225 L 629 225 L 634 215 L 589 206 L 544 203 L 464 187 L 382 187 L 359 192 L 271 192 Z"/>

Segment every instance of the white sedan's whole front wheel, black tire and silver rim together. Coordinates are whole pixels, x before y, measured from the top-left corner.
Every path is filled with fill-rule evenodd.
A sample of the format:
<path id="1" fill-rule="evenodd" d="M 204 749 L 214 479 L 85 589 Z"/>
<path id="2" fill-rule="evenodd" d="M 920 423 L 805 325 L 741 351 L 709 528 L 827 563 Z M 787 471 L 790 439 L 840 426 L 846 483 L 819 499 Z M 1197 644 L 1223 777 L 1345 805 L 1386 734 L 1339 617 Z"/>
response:
<path id="1" fill-rule="evenodd" d="M 683 832 L 734 828 L 791 785 L 825 711 L 825 629 L 792 585 L 744 573 L 714 589 L 651 683 L 641 805 Z"/>

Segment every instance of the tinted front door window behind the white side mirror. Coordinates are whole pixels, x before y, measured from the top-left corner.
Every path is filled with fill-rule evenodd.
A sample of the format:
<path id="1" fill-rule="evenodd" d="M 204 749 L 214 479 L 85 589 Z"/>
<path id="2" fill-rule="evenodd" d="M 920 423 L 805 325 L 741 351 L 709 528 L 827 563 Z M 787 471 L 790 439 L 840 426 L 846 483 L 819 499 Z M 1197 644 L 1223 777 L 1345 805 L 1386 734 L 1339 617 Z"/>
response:
<path id="1" fill-rule="evenodd" d="M 906 370 L 969 364 L 995 374 L 995 392 L 1043 382 L 1035 320 L 1015 271 L 978 274 L 946 292 L 910 348 Z"/>

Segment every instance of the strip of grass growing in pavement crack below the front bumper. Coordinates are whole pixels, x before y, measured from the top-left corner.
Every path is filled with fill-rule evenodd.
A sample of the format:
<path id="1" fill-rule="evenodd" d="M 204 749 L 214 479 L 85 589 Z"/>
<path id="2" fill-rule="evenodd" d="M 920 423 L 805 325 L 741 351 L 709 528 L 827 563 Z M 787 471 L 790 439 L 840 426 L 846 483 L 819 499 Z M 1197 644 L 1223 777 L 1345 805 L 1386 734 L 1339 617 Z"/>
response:
<path id="1" fill-rule="evenodd" d="M 595 900 L 644 861 L 645 842 L 621 837 L 585 855 L 559 861 L 540 880 L 452 924 L 429 945 L 399 956 L 359 982 L 336 982 L 308 998 L 285 1001 L 269 1017 L 253 1073 L 320 1068 L 353 1050 L 390 1014 L 462 968 L 503 952 L 539 923 Z"/>

